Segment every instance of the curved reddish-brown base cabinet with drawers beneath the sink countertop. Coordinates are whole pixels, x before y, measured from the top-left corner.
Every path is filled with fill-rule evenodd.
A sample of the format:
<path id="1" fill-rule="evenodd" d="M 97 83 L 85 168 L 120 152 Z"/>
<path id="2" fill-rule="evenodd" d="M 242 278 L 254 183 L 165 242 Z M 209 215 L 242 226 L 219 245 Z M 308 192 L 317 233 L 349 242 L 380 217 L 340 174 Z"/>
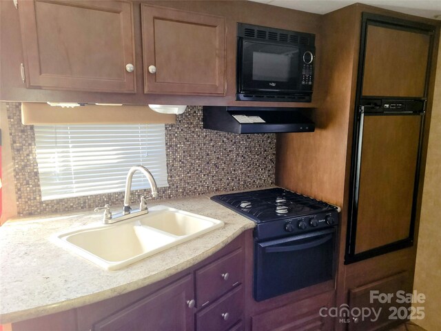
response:
<path id="1" fill-rule="evenodd" d="M 251 234 L 241 234 L 168 279 L 105 301 L 12 323 L 12 330 L 245 330 L 245 235 Z"/>

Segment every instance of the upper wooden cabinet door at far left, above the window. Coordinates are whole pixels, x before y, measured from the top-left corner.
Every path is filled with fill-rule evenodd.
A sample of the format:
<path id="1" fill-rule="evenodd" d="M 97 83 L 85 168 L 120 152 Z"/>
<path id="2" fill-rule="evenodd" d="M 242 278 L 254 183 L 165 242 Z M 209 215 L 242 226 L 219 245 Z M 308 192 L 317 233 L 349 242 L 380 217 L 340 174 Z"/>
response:
<path id="1" fill-rule="evenodd" d="M 130 1 L 20 1 L 28 88 L 136 92 Z"/>

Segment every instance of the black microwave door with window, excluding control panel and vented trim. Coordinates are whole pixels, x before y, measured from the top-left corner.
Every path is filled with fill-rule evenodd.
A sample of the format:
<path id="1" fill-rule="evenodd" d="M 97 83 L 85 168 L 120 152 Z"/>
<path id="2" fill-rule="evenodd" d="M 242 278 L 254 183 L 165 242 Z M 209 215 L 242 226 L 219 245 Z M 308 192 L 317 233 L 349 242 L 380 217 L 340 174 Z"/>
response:
<path id="1" fill-rule="evenodd" d="M 300 90 L 300 49 L 296 46 L 240 39 L 238 92 Z"/>

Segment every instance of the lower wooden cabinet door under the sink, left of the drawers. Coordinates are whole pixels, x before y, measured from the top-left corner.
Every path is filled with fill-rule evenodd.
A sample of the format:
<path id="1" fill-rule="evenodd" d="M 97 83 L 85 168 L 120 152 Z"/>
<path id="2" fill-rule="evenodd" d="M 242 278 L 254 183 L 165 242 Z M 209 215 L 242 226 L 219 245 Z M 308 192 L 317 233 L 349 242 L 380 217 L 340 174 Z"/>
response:
<path id="1" fill-rule="evenodd" d="M 193 277 L 189 274 L 96 323 L 93 330 L 194 330 L 194 309 L 187 303 L 193 299 L 193 290 Z"/>

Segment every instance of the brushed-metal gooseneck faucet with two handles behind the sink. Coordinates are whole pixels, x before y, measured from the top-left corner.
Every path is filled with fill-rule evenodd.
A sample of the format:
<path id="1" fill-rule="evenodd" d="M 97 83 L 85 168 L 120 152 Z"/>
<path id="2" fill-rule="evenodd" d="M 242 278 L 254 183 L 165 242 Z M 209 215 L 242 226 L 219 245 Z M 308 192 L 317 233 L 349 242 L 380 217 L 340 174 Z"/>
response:
<path id="1" fill-rule="evenodd" d="M 132 208 L 130 208 L 130 191 L 132 190 L 133 175 L 137 170 L 141 171 L 143 174 L 145 174 L 145 177 L 147 177 L 147 181 L 149 181 L 150 183 L 150 189 L 152 190 L 152 193 L 147 196 L 143 195 L 141 197 L 141 202 L 139 203 L 139 209 L 133 210 L 133 212 L 131 212 Z M 156 185 L 156 181 L 154 180 L 152 173 L 142 165 L 135 165 L 134 167 L 130 168 L 129 173 L 127 174 L 127 179 L 125 181 L 123 211 L 112 215 L 112 212 L 110 212 L 110 205 L 105 205 L 101 208 L 95 208 L 94 211 L 99 212 L 100 210 L 104 210 L 103 223 L 112 224 L 123 221 L 124 219 L 130 219 L 131 217 L 147 214 L 149 210 L 147 208 L 146 200 L 156 197 L 158 197 L 158 186 Z"/>

